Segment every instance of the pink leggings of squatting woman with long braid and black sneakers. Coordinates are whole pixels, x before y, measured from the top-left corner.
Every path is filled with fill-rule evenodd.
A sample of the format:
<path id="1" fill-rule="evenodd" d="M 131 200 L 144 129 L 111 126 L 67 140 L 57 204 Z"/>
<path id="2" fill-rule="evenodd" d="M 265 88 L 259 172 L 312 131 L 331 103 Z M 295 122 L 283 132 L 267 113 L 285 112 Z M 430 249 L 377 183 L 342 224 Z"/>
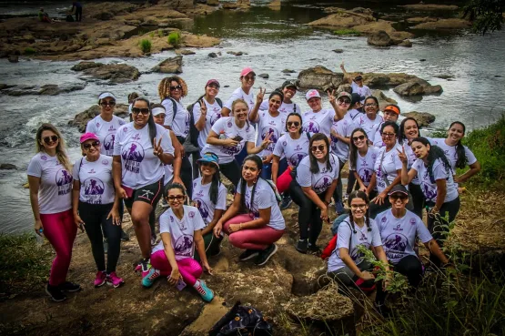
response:
<path id="1" fill-rule="evenodd" d="M 251 221 L 249 215 L 238 215 L 229 219 L 224 226 L 224 231 L 229 236 L 231 245 L 238 249 L 267 249 L 269 245 L 275 243 L 284 234 L 283 229 L 272 229 L 267 225 L 258 229 L 241 229 L 229 233 L 230 224 L 239 224 Z"/>

